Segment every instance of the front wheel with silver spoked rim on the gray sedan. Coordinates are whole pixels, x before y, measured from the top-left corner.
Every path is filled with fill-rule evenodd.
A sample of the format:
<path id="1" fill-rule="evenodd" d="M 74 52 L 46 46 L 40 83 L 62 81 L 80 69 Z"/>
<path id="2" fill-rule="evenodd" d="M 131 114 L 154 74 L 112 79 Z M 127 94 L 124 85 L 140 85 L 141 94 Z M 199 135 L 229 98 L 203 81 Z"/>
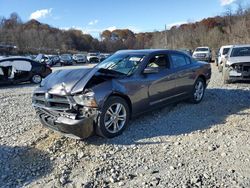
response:
<path id="1" fill-rule="evenodd" d="M 120 110 L 116 113 L 115 111 L 118 109 Z M 127 102 L 121 97 L 110 97 L 98 117 L 96 133 L 105 138 L 116 137 L 126 128 L 129 117 L 130 111 Z"/>

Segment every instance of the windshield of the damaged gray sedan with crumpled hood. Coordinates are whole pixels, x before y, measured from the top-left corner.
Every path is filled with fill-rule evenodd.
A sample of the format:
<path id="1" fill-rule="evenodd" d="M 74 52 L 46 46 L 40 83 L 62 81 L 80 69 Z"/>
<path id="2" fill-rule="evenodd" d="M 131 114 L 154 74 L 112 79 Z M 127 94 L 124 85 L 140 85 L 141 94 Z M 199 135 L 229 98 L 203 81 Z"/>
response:
<path id="1" fill-rule="evenodd" d="M 115 54 L 104 60 L 97 67 L 118 73 L 132 75 L 142 62 L 144 55 Z"/>

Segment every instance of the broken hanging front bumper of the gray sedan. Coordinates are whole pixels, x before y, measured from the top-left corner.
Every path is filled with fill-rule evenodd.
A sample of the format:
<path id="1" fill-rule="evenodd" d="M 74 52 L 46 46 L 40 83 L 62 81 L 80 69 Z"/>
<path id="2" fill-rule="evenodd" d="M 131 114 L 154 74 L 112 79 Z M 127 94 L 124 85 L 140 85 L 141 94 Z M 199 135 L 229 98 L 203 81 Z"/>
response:
<path id="1" fill-rule="evenodd" d="M 72 119 L 42 108 L 36 108 L 36 113 L 45 127 L 58 131 L 68 137 L 82 139 L 91 136 L 94 132 L 94 117 Z"/>

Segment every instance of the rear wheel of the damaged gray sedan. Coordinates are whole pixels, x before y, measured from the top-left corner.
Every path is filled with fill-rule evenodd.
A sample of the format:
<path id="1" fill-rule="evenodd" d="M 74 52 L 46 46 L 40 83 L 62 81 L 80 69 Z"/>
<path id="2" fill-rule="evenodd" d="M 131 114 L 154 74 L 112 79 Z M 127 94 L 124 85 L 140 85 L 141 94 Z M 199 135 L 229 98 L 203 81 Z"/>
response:
<path id="1" fill-rule="evenodd" d="M 204 80 L 202 78 L 198 78 L 193 86 L 190 102 L 194 104 L 200 103 L 204 97 L 205 89 L 206 85 Z"/>

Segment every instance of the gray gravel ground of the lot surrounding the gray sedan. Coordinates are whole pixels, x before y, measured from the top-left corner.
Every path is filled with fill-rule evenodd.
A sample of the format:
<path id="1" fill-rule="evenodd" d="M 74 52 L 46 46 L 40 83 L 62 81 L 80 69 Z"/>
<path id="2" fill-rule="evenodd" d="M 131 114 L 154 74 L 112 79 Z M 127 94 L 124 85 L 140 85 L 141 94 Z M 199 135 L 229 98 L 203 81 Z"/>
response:
<path id="1" fill-rule="evenodd" d="M 213 76 L 202 103 L 140 116 L 114 139 L 43 128 L 35 86 L 0 89 L 0 187 L 250 187 L 250 85 Z"/>

